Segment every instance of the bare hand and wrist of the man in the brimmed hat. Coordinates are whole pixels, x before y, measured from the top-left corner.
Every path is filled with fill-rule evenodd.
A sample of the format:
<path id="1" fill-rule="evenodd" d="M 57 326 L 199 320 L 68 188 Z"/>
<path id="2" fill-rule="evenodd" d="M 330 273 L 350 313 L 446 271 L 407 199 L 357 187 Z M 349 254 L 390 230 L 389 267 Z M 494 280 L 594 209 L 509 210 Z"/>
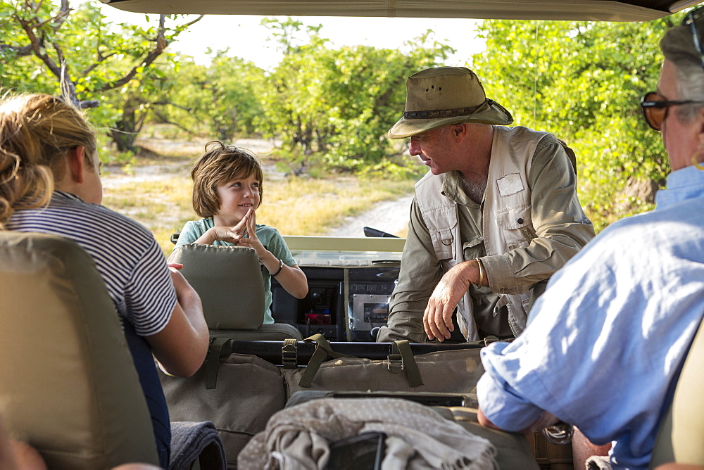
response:
<path id="1" fill-rule="evenodd" d="M 450 333 L 455 329 L 452 324 L 452 312 L 470 288 L 470 284 L 478 282 L 477 260 L 460 262 L 445 273 L 428 299 L 428 306 L 423 314 L 423 328 L 429 339 L 438 338 L 439 341 L 445 341 L 450 338 Z"/>

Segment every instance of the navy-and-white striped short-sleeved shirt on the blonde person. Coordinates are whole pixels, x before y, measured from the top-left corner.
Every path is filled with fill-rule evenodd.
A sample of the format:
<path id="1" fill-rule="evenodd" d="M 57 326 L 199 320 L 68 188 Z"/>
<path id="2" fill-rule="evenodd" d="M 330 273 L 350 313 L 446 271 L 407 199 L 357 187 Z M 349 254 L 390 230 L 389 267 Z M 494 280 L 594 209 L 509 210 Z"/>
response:
<path id="1" fill-rule="evenodd" d="M 149 230 L 102 205 L 54 191 L 46 208 L 18 210 L 6 227 L 72 239 L 92 256 L 120 319 L 139 336 L 163 330 L 176 292 L 161 248 Z"/>

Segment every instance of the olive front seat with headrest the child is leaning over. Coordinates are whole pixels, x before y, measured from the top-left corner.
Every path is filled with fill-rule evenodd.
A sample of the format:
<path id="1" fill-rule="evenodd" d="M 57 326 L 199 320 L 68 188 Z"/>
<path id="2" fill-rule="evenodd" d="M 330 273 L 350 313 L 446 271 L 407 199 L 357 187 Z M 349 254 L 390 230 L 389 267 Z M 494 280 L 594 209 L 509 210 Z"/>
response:
<path id="1" fill-rule="evenodd" d="M 303 340 L 295 326 L 264 321 L 264 281 L 256 252 L 246 246 L 187 243 L 174 250 L 184 277 L 201 296 L 211 337 L 235 340 Z"/>

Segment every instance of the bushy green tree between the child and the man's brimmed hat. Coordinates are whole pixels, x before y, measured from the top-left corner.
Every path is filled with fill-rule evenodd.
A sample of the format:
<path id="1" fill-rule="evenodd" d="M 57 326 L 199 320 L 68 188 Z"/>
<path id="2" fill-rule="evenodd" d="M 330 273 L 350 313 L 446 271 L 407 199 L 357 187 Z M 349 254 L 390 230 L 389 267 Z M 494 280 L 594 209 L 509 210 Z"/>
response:
<path id="1" fill-rule="evenodd" d="M 406 101 L 406 77 L 453 51 L 432 42 L 430 32 L 407 44 L 410 53 L 369 46 L 329 49 L 320 25 L 307 27 L 308 44 L 295 46 L 289 41 L 300 23 L 264 23 L 285 53 L 263 91 L 262 128 L 282 139 L 294 172 L 313 163 L 360 170 L 394 153 L 385 134 Z"/>

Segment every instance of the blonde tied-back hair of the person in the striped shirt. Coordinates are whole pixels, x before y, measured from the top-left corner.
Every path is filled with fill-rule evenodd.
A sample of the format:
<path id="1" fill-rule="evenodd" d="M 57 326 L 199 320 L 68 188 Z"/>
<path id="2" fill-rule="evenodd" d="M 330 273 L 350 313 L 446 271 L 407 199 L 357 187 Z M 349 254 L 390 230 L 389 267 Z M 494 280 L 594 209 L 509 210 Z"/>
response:
<path id="1" fill-rule="evenodd" d="M 46 94 L 0 101 L 0 229 L 15 210 L 49 203 L 68 151 L 79 146 L 92 167 L 95 133 L 72 104 Z"/>

